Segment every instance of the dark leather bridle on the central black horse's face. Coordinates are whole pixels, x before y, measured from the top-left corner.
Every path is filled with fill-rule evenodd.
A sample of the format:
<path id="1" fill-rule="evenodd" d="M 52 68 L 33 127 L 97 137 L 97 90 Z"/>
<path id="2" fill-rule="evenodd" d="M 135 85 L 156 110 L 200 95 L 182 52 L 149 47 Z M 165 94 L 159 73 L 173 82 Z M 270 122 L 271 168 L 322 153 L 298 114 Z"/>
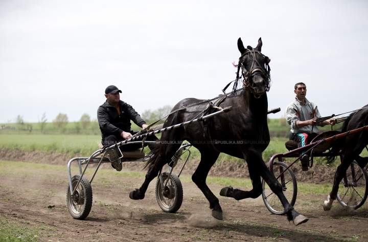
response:
<path id="1" fill-rule="evenodd" d="M 266 80 L 266 92 L 268 92 L 269 88 L 270 88 L 270 71 L 271 71 L 271 68 L 269 67 L 269 64 L 268 64 L 270 59 L 267 56 L 263 55 L 261 52 L 256 51 L 255 49 L 252 49 L 252 50 L 245 49 L 245 50 L 246 50 L 246 52 L 243 53 L 239 58 L 237 80 L 240 79 L 240 77 L 239 77 L 240 68 L 242 69 L 242 76 L 244 78 L 243 84 L 244 84 L 245 88 L 250 86 L 250 80 L 253 76 L 261 75 Z M 257 56 L 256 56 L 257 53 L 262 55 L 265 58 L 265 64 L 264 64 L 265 69 L 263 69 L 262 68 L 263 65 L 261 65 L 258 62 Z M 249 72 L 245 69 L 244 64 L 242 62 L 242 58 L 245 55 L 248 55 L 249 58 L 250 58 L 250 56 L 252 57 L 252 63 L 250 65 L 250 71 Z M 258 64 L 258 67 L 255 66 L 255 63 Z"/>

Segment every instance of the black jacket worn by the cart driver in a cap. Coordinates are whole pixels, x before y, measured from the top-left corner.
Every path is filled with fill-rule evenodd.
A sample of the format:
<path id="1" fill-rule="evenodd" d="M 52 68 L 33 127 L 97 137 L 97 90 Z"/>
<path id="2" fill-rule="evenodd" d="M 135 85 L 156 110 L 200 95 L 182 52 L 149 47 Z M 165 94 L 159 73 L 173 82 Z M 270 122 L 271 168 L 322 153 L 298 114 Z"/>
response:
<path id="1" fill-rule="evenodd" d="M 118 110 L 106 102 L 99 106 L 97 119 L 99 121 L 102 139 L 110 135 L 120 136 L 122 131 L 130 132 L 130 120 L 142 127 L 146 122 L 135 112 L 128 103 L 119 101 L 120 116 Z"/>

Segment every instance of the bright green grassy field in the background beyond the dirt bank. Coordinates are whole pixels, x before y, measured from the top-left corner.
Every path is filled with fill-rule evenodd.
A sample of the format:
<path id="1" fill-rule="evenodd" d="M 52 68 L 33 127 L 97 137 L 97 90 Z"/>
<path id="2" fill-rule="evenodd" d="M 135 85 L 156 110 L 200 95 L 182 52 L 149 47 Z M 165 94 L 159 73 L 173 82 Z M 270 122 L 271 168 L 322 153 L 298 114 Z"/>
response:
<path id="1" fill-rule="evenodd" d="M 64 131 L 61 131 L 52 123 L 47 123 L 43 131 L 41 131 L 39 123 L 32 123 L 32 130 L 29 131 L 25 125 L 6 124 L 14 126 L 15 129 L 0 129 L 0 147 L 7 149 L 22 149 L 22 150 L 39 150 L 51 153 L 69 153 L 71 157 L 76 153 L 82 156 L 89 156 L 98 149 L 98 143 L 101 142 L 100 130 L 96 122 L 91 122 L 85 129 L 81 128 L 77 132 L 76 127 L 78 122 L 70 122 L 67 124 Z M 287 152 L 285 142 L 288 140 L 290 126 L 285 119 L 268 119 L 268 126 L 271 135 L 271 142 L 267 149 L 262 153 L 263 159 L 269 159 L 275 153 Z M 337 127 L 335 127 L 337 128 Z M 140 130 L 132 123 L 132 129 Z M 321 130 L 328 130 L 330 126 L 321 127 Z M 159 136 L 158 136 L 159 137 Z M 192 159 L 200 159 L 200 153 L 192 147 Z M 362 156 L 367 156 L 368 152 L 364 150 Z M 286 159 L 292 161 L 292 158 Z M 231 161 L 244 162 L 244 160 L 234 158 L 224 153 L 221 153 L 217 162 Z M 316 158 L 315 162 L 324 163 L 323 159 Z M 335 162 L 338 164 L 338 162 Z"/>

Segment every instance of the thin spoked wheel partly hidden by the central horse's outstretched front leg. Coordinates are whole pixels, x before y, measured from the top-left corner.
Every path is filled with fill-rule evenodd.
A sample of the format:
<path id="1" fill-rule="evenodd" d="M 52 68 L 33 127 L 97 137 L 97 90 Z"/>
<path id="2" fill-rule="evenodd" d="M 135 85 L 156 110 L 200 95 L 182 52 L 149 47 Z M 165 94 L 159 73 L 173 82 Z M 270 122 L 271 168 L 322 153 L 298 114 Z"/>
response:
<path id="1" fill-rule="evenodd" d="M 273 163 L 273 174 L 277 178 L 278 182 L 283 188 L 284 195 L 291 206 L 294 206 L 296 201 L 297 185 L 295 175 L 288 165 L 283 162 Z M 281 176 L 281 172 L 286 170 Z M 279 177 L 280 176 L 280 177 Z M 279 177 L 279 178 L 278 178 Z M 266 208 L 273 214 L 284 215 L 286 214 L 284 206 L 282 205 L 279 197 L 271 191 L 267 183 L 262 180 L 262 199 Z"/>

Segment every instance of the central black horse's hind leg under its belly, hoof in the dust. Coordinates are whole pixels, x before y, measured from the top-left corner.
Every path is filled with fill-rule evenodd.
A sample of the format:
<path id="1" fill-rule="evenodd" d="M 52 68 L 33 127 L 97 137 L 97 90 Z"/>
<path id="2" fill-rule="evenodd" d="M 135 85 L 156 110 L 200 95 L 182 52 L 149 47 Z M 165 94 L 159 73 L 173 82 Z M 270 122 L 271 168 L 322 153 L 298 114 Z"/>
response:
<path id="1" fill-rule="evenodd" d="M 205 183 L 207 175 L 211 167 L 215 164 L 220 153 L 214 151 L 200 150 L 201 161 L 192 175 L 192 181 L 203 192 L 206 199 L 210 202 L 210 209 L 212 209 L 212 216 L 216 219 L 222 220 L 222 209 L 218 198 L 213 194 L 210 188 Z"/>

